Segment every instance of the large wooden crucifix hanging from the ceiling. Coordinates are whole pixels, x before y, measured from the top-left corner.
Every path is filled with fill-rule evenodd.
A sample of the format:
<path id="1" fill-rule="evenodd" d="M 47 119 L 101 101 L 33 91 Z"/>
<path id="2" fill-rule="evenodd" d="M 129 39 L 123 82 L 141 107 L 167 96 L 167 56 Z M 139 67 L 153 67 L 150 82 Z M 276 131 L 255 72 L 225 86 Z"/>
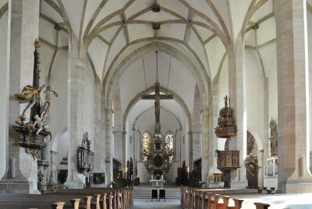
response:
<path id="1" fill-rule="evenodd" d="M 142 100 L 155 100 L 155 126 L 160 126 L 160 100 L 173 100 L 172 94 L 159 94 L 160 83 L 155 83 L 155 94 L 141 95 Z"/>

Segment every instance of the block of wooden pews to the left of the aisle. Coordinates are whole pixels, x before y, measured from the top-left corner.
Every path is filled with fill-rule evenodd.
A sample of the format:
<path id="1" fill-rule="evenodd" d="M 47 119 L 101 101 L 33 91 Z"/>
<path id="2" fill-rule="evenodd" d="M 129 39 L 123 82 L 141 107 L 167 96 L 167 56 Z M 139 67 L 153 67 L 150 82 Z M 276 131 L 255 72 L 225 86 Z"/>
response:
<path id="1" fill-rule="evenodd" d="M 44 195 L 0 194 L 2 209 L 128 209 L 132 207 L 133 187 L 67 189 Z"/>

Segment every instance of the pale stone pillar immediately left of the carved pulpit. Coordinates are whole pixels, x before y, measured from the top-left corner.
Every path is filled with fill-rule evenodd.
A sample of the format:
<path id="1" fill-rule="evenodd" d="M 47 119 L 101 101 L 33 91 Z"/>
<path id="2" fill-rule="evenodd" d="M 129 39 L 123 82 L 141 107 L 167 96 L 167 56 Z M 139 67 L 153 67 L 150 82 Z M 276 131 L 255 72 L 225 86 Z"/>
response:
<path id="1" fill-rule="evenodd" d="M 225 95 L 224 95 L 225 96 Z M 218 138 L 214 133 L 214 129 L 218 125 L 218 116 L 220 111 L 220 85 L 219 79 L 213 80 L 212 83 L 212 94 L 209 97 L 209 152 L 208 152 L 208 166 L 209 176 L 210 173 L 222 173 L 217 169 L 217 154 L 218 149 Z M 223 186 L 223 182 L 210 182 L 207 181 L 208 187 Z"/>

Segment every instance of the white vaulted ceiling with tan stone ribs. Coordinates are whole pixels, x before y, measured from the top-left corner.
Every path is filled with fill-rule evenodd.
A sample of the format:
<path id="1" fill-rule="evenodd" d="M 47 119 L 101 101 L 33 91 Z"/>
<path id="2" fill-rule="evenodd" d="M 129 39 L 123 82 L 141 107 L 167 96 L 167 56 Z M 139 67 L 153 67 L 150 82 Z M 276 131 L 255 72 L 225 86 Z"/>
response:
<path id="1" fill-rule="evenodd" d="M 154 3 L 160 5 L 160 12 L 151 11 Z M 107 72 L 113 73 L 120 57 L 156 40 L 188 56 L 206 83 L 219 74 L 227 62 L 226 48 L 240 32 L 244 34 L 246 49 L 257 52 L 264 76 L 270 70 L 276 48 L 273 0 L 41 0 L 40 17 L 40 40 L 53 49 L 46 50 L 43 58 L 46 68 L 54 61 L 53 51 L 66 48 L 72 34 L 84 43 L 102 82 L 108 79 Z M 159 30 L 153 30 L 154 23 L 160 23 Z M 55 25 L 61 31 L 54 30 Z M 252 30 L 254 25 L 259 25 L 259 29 Z M 160 81 L 164 87 L 169 60 L 169 55 L 159 54 Z M 144 55 L 144 62 L 150 87 L 155 78 L 155 55 Z M 143 73 L 141 57 L 118 77 L 123 112 L 132 97 L 146 88 Z M 190 112 L 195 83 L 190 69 L 171 58 L 168 88 L 184 100 Z"/>

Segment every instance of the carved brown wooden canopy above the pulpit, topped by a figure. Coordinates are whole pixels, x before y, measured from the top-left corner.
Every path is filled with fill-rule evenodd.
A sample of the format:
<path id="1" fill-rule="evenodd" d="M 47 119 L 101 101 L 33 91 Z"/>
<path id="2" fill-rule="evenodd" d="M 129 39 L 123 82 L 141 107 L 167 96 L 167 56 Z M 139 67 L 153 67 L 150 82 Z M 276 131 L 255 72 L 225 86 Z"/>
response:
<path id="1" fill-rule="evenodd" d="M 227 106 L 227 95 L 223 99 L 225 107 L 220 109 L 218 125 L 215 128 L 215 134 L 218 138 L 229 138 L 230 136 L 236 136 L 238 130 L 233 115 L 234 110 Z"/>

